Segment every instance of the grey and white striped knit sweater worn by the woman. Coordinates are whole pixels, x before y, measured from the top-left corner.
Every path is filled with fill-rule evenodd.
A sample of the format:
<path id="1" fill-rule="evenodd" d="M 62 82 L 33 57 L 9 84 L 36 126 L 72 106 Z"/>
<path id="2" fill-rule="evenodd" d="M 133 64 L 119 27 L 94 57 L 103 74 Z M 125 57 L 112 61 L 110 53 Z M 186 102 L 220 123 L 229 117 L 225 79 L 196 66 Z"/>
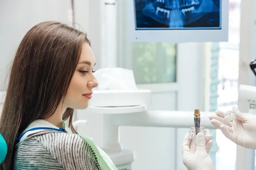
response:
<path id="1" fill-rule="evenodd" d="M 91 147 L 78 135 L 49 130 L 28 135 L 15 146 L 14 170 L 100 170 Z"/>

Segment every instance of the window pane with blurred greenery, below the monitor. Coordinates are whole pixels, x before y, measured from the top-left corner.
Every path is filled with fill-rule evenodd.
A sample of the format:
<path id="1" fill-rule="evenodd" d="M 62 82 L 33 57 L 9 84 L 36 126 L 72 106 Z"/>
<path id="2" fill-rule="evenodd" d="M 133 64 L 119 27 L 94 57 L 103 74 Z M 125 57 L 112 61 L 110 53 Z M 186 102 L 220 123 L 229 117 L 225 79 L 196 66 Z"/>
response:
<path id="1" fill-rule="evenodd" d="M 132 43 L 132 70 L 137 84 L 176 81 L 176 44 Z"/>

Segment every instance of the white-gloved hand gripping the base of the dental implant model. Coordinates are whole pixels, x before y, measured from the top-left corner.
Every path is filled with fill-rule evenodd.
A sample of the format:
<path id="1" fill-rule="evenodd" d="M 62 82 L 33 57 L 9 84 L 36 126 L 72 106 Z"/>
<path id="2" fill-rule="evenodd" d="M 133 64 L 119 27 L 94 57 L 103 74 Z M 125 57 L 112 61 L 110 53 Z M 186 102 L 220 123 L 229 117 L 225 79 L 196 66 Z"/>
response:
<path id="1" fill-rule="evenodd" d="M 212 140 L 208 140 L 210 138 L 205 139 L 202 133 L 198 133 L 196 140 L 191 141 L 191 139 L 188 139 L 188 134 L 186 135 L 182 144 L 182 156 L 183 164 L 188 170 L 215 170 L 212 159 L 208 154 L 212 147 Z M 196 141 L 196 151 L 192 152 L 190 145 L 194 141 Z"/>

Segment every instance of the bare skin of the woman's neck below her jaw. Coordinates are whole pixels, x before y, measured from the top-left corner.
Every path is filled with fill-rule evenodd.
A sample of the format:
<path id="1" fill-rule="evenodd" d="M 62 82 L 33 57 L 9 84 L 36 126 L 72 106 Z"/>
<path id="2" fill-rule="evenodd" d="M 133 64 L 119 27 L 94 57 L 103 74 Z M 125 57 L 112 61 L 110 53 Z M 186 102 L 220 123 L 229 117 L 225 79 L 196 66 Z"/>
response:
<path id="1" fill-rule="evenodd" d="M 45 119 L 47 122 L 52 123 L 54 126 L 57 126 L 58 128 L 62 128 L 62 116 L 67 108 L 59 106 L 55 113 L 49 117 L 48 119 Z"/>

